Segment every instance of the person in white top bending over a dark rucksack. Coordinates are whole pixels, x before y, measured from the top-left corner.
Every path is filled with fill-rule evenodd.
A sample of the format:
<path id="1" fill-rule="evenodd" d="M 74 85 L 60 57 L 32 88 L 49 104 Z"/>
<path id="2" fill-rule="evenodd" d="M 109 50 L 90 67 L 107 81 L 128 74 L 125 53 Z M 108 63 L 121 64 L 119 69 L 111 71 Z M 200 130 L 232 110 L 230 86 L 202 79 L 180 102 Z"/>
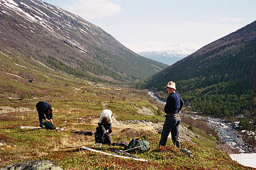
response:
<path id="1" fill-rule="evenodd" d="M 111 144 L 112 132 L 112 111 L 105 109 L 102 111 L 95 133 L 95 143 Z"/>

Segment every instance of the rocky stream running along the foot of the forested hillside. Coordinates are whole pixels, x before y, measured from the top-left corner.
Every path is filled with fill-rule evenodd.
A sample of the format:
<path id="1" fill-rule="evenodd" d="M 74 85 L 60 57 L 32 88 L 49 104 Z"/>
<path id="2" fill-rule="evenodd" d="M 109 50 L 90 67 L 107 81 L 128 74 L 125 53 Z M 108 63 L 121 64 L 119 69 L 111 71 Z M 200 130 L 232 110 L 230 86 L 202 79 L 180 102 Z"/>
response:
<path id="1" fill-rule="evenodd" d="M 148 94 L 158 102 L 162 102 L 165 104 L 164 101 L 154 95 L 153 91 L 148 91 Z M 186 115 L 192 117 L 193 119 L 206 120 L 207 123 L 218 133 L 218 137 L 220 138 L 220 140 L 224 143 L 227 143 L 232 149 L 236 150 L 238 153 L 253 153 L 252 145 L 245 142 L 242 136 L 238 133 L 238 131 L 232 127 L 231 123 L 225 122 L 224 119 L 210 116 L 199 116 L 195 114 Z"/>

